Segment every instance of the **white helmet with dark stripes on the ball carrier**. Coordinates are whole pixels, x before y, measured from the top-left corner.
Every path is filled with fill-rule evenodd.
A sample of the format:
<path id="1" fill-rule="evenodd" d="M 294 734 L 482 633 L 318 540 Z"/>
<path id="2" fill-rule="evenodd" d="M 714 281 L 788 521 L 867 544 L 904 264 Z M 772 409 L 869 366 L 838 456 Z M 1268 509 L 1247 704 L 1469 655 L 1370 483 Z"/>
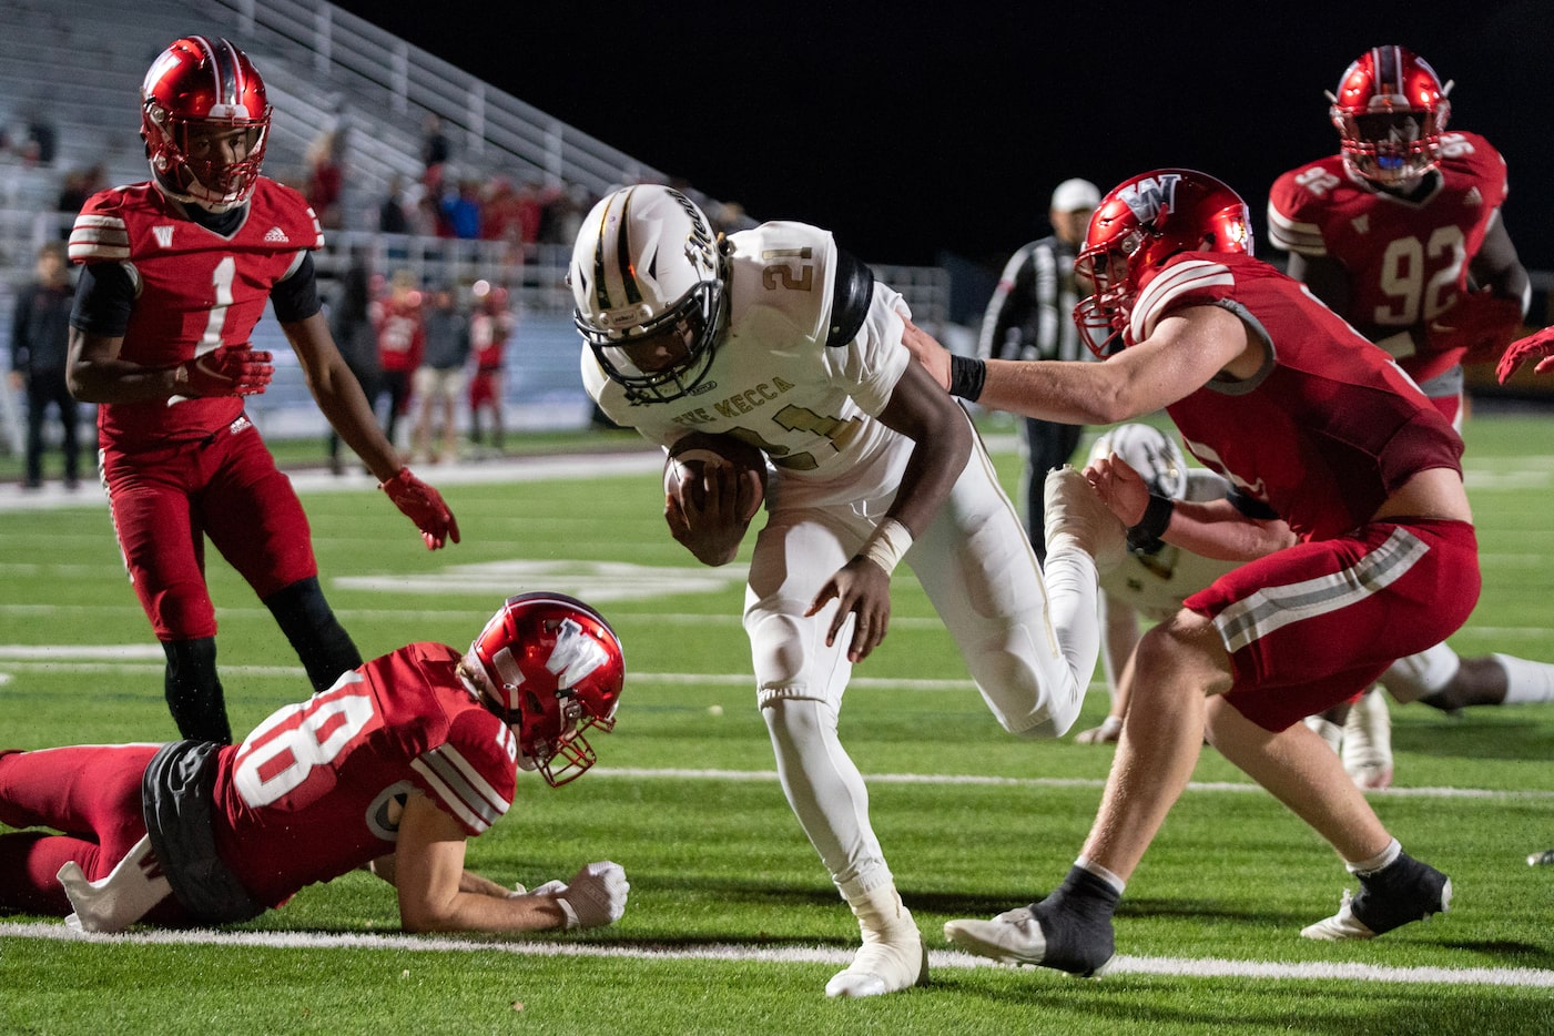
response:
<path id="1" fill-rule="evenodd" d="M 723 259 L 693 200 L 657 183 L 615 191 L 572 249 L 573 323 L 634 402 L 690 393 L 723 331 Z"/>

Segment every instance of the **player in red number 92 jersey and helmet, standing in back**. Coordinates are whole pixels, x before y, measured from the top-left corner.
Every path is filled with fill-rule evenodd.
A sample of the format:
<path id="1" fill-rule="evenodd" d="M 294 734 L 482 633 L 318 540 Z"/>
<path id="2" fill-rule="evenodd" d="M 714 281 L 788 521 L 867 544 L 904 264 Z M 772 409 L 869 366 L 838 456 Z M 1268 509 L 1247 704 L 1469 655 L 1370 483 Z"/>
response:
<path id="1" fill-rule="evenodd" d="M 1340 154 L 1274 180 L 1268 236 L 1290 276 L 1388 351 L 1462 429 L 1464 362 L 1495 360 L 1517 337 L 1531 278 L 1501 217 L 1506 160 L 1465 130 L 1436 71 L 1403 47 L 1374 47 L 1329 93 Z M 1383 758 L 1386 702 L 1371 693 L 1347 718 L 1355 758 Z M 1355 744 L 1358 742 L 1358 744 Z"/>

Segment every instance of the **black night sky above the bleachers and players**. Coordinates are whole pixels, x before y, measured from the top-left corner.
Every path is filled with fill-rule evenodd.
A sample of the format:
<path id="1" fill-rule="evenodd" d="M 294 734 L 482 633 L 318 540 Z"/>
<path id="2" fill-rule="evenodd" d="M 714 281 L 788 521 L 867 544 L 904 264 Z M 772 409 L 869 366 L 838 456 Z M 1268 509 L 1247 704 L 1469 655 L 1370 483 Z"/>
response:
<path id="1" fill-rule="evenodd" d="M 1402 43 L 1455 79 L 1451 126 L 1506 155 L 1506 225 L 1554 269 L 1554 5 L 340 5 L 755 219 L 870 262 L 999 266 L 1052 186 L 1158 166 L 1234 186 L 1260 236 L 1273 179 L 1338 138 L 1350 61 Z M 1259 252 L 1267 250 L 1259 242 Z"/>

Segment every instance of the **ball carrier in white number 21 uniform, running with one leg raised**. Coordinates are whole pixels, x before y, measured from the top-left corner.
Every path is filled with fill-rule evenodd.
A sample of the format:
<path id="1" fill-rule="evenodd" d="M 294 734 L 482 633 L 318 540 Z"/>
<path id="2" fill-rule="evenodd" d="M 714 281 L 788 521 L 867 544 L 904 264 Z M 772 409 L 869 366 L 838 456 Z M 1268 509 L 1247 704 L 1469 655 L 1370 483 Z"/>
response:
<path id="1" fill-rule="evenodd" d="M 569 281 L 583 381 L 609 418 L 664 446 L 732 435 L 771 460 L 744 629 L 783 792 L 862 932 L 825 991 L 922 983 L 925 943 L 836 735 L 852 666 L 884 638 L 890 572 L 903 559 L 915 572 L 999 724 L 1055 738 L 1099 652 L 1091 556 L 1120 556 L 1120 523 L 1068 469 L 1049 488 L 1043 586 L 965 410 L 903 345 L 926 332 L 825 230 L 772 222 L 720 241 L 684 194 L 629 186 L 584 219 Z M 670 495 L 665 517 L 698 559 L 721 564 L 747 497 L 735 480 L 707 483 L 706 502 Z M 1077 542 L 1069 520 L 1086 511 Z"/>

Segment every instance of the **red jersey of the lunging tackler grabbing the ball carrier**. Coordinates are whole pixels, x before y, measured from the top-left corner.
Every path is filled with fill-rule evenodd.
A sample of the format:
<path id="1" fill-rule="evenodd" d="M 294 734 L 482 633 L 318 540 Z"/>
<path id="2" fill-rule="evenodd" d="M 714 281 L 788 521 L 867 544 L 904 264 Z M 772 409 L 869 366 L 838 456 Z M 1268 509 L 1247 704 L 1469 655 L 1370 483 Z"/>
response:
<path id="1" fill-rule="evenodd" d="M 1142 284 L 1128 328 L 1142 342 L 1172 312 L 1223 306 L 1268 343 L 1268 365 L 1211 381 L 1167 412 L 1204 464 L 1271 506 L 1302 539 L 1371 520 L 1413 475 L 1461 474 L 1462 440 L 1385 353 L 1304 284 L 1243 255 L 1184 252 Z"/>

